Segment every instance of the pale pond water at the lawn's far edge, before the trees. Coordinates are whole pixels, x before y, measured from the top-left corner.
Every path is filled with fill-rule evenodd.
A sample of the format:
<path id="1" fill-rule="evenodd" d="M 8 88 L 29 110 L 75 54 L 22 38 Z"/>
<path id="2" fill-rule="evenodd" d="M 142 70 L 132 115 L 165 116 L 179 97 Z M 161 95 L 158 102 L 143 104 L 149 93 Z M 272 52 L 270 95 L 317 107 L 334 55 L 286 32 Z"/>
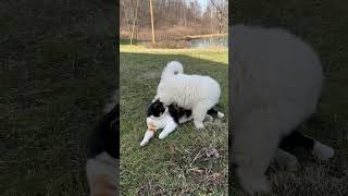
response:
<path id="1" fill-rule="evenodd" d="M 228 37 L 208 37 L 189 40 L 189 48 L 209 48 L 223 47 L 228 48 Z"/>

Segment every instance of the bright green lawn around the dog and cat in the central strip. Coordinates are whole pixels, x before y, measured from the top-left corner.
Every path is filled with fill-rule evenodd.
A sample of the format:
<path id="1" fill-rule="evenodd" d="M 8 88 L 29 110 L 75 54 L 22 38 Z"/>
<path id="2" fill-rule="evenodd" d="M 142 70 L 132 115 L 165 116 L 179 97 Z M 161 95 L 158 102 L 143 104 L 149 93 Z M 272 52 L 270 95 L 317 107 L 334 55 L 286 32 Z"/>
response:
<path id="1" fill-rule="evenodd" d="M 227 193 L 227 100 L 226 49 L 147 49 L 121 45 L 121 187 L 122 195 Z M 164 140 L 157 135 L 140 148 L 146 109 L 166 62 L 178 60 L 188 74 L 210 75 L 222 88 L 216 107 L 226 117 L 195 130 L 189 122 Z M 216 149 L 219 157 L 207 157 Z"/>

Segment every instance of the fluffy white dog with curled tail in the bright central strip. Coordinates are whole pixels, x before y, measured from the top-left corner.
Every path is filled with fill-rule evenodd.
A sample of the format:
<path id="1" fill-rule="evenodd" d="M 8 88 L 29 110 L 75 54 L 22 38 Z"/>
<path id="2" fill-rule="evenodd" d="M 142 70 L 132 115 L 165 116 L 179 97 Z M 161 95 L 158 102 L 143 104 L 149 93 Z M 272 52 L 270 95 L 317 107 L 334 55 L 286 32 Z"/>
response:
<path id="1" fill-rule="evenodd" d="M 183 64 L 172 61 L 162 72 L 156 99 L 165 106 L 175 103 L 192 110 L 195 126 L 202 128 L 207 111 L 219 102 L 220 95 L 216 81 L 209 76 L 184 74 Z"/>

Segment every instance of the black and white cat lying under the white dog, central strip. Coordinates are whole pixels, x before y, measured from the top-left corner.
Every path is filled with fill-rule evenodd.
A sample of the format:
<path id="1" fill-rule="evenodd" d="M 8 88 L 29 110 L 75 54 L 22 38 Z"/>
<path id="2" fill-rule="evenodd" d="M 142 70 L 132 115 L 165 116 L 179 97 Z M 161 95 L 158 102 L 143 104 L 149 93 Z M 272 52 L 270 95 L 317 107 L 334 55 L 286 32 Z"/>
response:
<path id="1" fill-rule="evenodd" d="M 223 118 L 224 114 L 215 109 L 210 109 L 207 112 L 207 117 L 210 119 L 213 117 Z M 159 135 L 159 138 L 163 139 L 174 132 L 178 124 L 191 121 L 192 119 L 191 110 L 179 108 L 176 105 L 165 107 L 159 99 L 154 100 L 147 111 L 146 122 L 148 130 L 146 131 L 140 146 L 148 144 L 157 130 L 163 128 Z"/>

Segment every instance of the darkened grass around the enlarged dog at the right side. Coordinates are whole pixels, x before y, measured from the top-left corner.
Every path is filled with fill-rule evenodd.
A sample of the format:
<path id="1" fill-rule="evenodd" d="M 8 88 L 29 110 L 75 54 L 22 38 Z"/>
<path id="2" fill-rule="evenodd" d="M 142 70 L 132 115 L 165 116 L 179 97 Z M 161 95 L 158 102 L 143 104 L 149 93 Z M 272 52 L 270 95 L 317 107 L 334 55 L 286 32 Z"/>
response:
<path id="1" fill-rule="evenodd" d="M 348 195 L 347 1 L 248 0 L 234 1 L 234 24 L 283 27 L 309 42 L 326 76 L 318 112 L 306 123 L 306 134 L 332 146 L 335 157 L 326 163 L 300 158 L 297 170 L 272 172 L 270 195 Z"/>

